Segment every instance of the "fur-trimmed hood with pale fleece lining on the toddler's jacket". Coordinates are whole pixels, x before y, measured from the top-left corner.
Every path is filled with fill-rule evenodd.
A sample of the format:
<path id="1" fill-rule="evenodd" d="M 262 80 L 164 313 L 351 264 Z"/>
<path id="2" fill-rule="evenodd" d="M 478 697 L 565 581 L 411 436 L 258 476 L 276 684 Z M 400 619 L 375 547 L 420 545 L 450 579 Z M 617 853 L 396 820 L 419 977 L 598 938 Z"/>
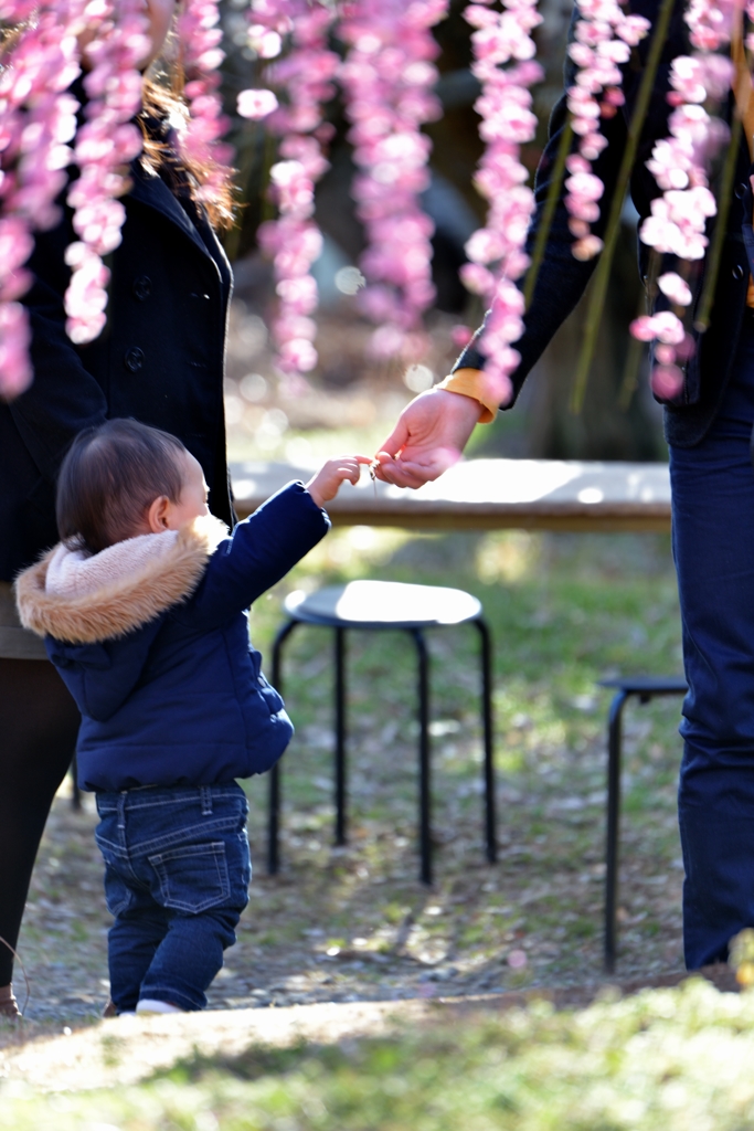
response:
<path id="1" fill-rule="evenodd" d="M 98 554 L 60 543 L 16 579 L 21 624 L 77 645 L 123 637 L 190 597 L 226 537 L 225 524 L 206 515 Z"/>

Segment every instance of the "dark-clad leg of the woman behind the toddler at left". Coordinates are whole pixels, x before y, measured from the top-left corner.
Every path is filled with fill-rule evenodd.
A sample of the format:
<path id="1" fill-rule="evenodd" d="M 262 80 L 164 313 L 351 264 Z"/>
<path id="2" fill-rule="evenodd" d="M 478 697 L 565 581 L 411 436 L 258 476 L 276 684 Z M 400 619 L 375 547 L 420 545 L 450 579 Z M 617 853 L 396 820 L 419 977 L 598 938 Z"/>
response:
<path id="1" fill-rule="evenodd" d="M 52 800 L 70 766 L 80 716 L 52 664 L 0 658 L 0 938 L 16 947 Z M 0 986 L 12 955 L 0 943 Z"/>

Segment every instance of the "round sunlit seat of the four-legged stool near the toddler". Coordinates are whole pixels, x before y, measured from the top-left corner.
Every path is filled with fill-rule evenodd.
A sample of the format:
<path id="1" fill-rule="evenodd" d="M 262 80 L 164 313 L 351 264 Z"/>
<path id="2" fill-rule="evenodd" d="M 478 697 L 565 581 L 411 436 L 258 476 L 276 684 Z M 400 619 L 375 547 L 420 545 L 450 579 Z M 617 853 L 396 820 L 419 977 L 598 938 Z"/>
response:
<path id="1" fill-rule="evenodd" d="M 482 615 L 482 603 L 462 589 L 402 581 L 348 581 L 317 593 L 292 593 L 288 616 L 328 628 L 422 629 L 463 624 Z"/>

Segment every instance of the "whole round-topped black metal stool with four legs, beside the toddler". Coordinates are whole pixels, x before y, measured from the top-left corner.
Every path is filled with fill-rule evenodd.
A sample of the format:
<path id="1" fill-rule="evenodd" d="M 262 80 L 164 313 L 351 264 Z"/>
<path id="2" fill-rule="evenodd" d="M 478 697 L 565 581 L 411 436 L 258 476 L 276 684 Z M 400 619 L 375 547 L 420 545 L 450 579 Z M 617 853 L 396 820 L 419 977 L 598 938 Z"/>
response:
<path id="1" fill-rule="evenodd" d="M 430 654 L 424 634 L 428 628 L 475 624 L 480 637 L 482 720 L 484 729 L 484 819 L 486 853 L 496 860 L 495 783 L 492 735 L 492 644 L 482 605 L 468 593 L 428 585 L 396 581 L 350 581 L 328 586 L 311 596 L 291 594 L 285 602 L 289 620 L 280 628 L 272 649 L 272 683 L 281 690 L 283 645 L 297 624 L 318 624 L 335 630 L 335 843 L 346 843 L 346 630 L 402 629 L 416 645 L 419 697 L 419 845 L 421 880 L 432 883 L 430 795 Z M 280 814 L 279 762 L 270 772 L 267 869 L 278 871 Z"/>

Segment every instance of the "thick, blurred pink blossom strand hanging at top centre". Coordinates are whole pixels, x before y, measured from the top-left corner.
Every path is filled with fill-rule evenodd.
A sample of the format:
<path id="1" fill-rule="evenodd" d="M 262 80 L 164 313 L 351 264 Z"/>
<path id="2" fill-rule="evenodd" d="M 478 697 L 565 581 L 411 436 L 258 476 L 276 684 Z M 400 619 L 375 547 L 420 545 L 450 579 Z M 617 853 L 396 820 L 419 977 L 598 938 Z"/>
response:
<path id="1" fill-rule="evenodd" d="M 408 360 L 425 348 L 422 314 L 435 294 L 434 225 L 419 205 L 432 147 L 421 128 L 441 114 L 432 93 L 439 48 L 431 28 L 447 14 L 448 0 L 343 5 L 338 34 L 348 53 L 340 83 L 361 170 L 353 196 L 367 238 L 361 267 L 369 285 L 359 305 L 379 323 L 372 337 L 378 356 Z"/>

